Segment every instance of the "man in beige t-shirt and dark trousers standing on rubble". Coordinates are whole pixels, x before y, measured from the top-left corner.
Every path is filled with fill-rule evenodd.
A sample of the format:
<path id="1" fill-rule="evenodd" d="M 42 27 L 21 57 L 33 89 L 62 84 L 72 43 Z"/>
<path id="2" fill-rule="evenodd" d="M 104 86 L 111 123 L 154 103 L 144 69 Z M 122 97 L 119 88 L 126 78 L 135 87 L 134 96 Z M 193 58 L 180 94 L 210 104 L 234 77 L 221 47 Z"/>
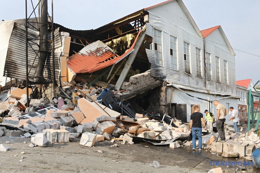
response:
<path id="1" fill-rule="evenodd" d="M 220 104 L 217 100 L 214 100 L 214 105 L 217 106 L 217 130 L 220 136 L 220 141 L 218 142 L 225 142 L 225 130 L 224 130 L 224 123 L 225 123 L 225 116 L 228 114 L 228 110 L 225 108 L 224 105 Z"/>

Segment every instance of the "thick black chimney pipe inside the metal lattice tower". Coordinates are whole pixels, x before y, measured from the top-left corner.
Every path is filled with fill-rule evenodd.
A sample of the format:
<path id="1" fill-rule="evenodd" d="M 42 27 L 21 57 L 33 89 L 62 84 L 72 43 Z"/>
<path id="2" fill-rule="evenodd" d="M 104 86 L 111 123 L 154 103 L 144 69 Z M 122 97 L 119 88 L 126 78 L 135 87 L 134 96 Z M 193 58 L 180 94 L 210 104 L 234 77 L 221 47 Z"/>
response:
<path id="1" fill-rule="evenodd" d="M 48 53 L 48 0 L 41 0 L 41 20 L 40 20 L 41 40 L 40 40 L 40 57 L 35 70 L 34 82 L 44 84 L 43 77 L 44 64 Z"/>

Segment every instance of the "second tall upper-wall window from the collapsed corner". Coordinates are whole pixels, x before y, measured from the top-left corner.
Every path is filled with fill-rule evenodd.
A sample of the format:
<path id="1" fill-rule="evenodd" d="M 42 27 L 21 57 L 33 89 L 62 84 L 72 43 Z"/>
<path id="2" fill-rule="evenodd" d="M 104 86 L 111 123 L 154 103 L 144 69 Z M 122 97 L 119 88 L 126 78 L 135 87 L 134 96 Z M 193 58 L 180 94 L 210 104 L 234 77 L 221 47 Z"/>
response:
<path id="1" fill-rule="evenodd" d="M 177 70 L 177 38 L 173 36 L 170 36 L 170 56 L 171 68 Z"/>

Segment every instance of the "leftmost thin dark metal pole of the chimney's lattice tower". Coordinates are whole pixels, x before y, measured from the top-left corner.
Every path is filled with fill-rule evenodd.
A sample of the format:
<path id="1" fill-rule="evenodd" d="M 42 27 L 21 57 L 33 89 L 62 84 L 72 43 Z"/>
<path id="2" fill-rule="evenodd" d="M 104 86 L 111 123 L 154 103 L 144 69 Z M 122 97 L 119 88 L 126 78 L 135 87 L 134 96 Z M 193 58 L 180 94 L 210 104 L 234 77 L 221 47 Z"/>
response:
<path id="1" fill-rule="evenodd" d="M 28 89 L 28 26 L 27 26 L 27 0 L 25 0 L 25 57 L 26 57 L 26 95 L 27 107 L 29 107 L 29 89 Z"/>

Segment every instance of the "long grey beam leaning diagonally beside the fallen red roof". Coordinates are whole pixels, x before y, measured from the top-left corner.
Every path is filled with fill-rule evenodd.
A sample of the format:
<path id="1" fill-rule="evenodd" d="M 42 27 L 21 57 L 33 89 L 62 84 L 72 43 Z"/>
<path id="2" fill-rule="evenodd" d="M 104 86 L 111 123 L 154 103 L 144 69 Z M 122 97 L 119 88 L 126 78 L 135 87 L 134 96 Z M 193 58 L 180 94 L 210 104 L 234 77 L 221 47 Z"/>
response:
<path id="1" fill-rule="evenodd" d="M 139 49 L 143 43 L 143 40 L 145 38 L 145 33 L 146 33 L 146 30 L 142 31 L 138 40 L 136 41 L 136 43 L 134 45 L 134 51 L 129 55 L 128 60 L 126 61 L 126 65 L 123 68 L 118 81 L 116 82 L 115 89 L 119 90 L 123 84 L 123 81 L 125 81 L 126 76 L 131 68 L 131 65 L 133 64 L 134 59 L 137 55 L 137 52 L 139 51 Z"/>

